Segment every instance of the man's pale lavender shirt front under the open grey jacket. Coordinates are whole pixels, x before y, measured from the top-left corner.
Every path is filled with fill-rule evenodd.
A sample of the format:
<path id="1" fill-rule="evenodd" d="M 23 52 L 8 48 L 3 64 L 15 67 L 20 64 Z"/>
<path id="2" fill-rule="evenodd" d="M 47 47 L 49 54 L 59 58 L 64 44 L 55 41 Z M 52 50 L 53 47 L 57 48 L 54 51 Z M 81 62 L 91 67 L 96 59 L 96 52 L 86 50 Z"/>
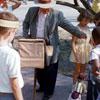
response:
<path id="1" fill-rule="evenodd" d="M 47 14 L 39 11 L 38 13 L 38 23 L 37 23 L 37 38 L 44 38 L 45 21 Z"/>

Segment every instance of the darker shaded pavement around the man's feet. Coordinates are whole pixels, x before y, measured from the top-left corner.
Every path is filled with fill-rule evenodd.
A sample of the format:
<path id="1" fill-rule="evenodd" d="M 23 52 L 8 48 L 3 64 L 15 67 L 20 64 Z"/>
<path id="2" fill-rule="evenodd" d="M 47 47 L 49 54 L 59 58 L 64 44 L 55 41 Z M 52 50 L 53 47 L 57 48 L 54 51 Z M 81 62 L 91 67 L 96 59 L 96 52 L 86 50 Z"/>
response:
<path id="1" fill-rule="evenodd" d="M 54 95 L 50 100 L 67 100 L 70 92 L 71 92 L 71 86 L 68 85 L 56 86 Z M 33 85 L 25 84 L 23 88 L 23 96 L 24 100 L 33 100 Z M 37 93 L 36 100 L 42 100 L 42 96 L 43 93 Z"/>

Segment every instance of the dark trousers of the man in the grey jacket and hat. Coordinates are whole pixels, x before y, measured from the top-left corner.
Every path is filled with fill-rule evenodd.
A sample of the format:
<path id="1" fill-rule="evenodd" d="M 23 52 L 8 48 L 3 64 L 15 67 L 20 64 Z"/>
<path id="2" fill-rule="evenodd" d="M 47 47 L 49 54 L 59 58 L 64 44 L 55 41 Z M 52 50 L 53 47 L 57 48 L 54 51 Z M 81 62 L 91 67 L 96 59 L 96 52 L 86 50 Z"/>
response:
<path id="1" fill-rule="evenodd" d="M 37 80 L 45 94 L 52 95 L 58 72 L 58 62 L 37 70 Z"/>

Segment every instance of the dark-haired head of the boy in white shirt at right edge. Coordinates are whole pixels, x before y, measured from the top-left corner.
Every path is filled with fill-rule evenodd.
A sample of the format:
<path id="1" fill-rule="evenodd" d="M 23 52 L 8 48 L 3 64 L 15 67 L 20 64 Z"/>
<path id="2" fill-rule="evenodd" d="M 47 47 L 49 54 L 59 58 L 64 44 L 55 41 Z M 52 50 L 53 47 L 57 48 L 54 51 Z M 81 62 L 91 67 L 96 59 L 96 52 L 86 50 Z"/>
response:
<path id="1" fill-rule="evenodd" d="M 100 44 L 100 27 L 96 27 L 93 29 L 92 37 L 96 45 Z"/>

